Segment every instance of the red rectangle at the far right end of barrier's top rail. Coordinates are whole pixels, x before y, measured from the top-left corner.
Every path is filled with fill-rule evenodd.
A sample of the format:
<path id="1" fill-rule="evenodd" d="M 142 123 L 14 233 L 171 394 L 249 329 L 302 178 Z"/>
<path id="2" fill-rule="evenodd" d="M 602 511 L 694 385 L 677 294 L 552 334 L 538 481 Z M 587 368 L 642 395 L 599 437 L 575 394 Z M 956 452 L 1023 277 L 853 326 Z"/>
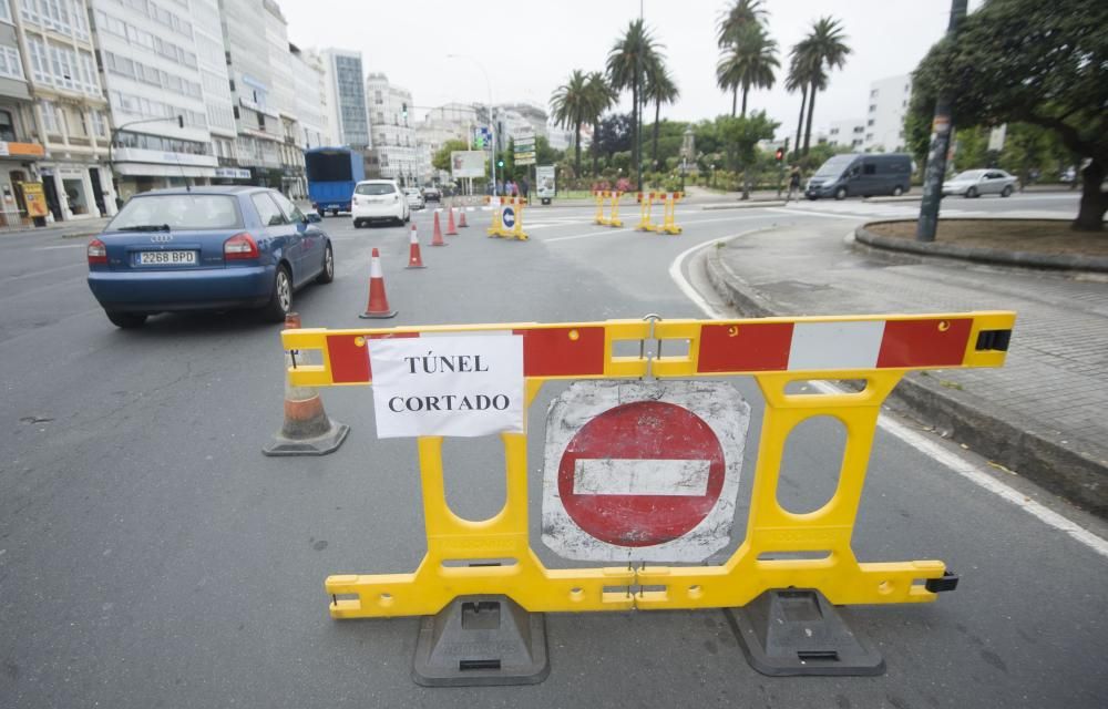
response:
<path id="1" fill-rule="evenodd" d="M 881 339 L 878 367 L 960 366 L 972 329 L 970 318 L 890 320 Z"/>

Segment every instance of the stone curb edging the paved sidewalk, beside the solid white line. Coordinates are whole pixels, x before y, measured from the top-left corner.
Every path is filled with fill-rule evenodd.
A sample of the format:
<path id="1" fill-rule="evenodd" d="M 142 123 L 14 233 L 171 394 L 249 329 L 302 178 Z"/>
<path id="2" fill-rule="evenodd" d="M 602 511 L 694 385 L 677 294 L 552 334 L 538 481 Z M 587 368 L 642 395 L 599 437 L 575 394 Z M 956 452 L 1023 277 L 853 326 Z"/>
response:
<path id="1" fill-rule="evenodd" d="M 728 239 L 729 240 L 729 239 Z M 712 249 L 705 259 L 708 281 L 742 315 L 779 317 L 784 312 L 728 268 Z M 943 387 L 919 372 L 904 377 L 889 402 L 897 410 L 948 431 L 950 436 L 991 461 L 1017 471 L 1046 490 L 1108 518 L 1108 448 L 1084 442 L 1078 452 L 1047 438 L 1042 424 L 1024 417 L 989 410 L 989 402 Z"/>

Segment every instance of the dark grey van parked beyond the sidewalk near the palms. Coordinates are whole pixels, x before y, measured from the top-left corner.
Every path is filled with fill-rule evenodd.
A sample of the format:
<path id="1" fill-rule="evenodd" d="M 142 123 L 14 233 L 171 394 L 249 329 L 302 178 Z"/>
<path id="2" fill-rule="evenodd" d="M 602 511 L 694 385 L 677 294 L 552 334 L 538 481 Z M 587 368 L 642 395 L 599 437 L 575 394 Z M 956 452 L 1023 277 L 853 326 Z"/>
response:
<path id="1" fill-rule="evenodd" d="M 804 196 L 809 199 L 901 195 L 912 184 L 912 156 L 905 153 L 835 155 L 815 171 Z"/>

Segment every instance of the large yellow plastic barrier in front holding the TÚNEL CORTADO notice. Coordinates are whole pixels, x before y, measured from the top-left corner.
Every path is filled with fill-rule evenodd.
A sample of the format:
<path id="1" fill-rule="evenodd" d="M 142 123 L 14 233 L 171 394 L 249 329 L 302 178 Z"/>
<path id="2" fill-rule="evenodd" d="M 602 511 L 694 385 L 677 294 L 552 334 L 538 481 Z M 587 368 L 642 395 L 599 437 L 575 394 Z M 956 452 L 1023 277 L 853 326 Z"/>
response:
<path id="1" fill-rule="evenodd" d="M 284 330 L 286 350 L 318 350 L 319 357 L 310 361 L 321 362 L 290 367 L 288 381 L 295 387 L 371 383 L 367 348 L 371 339 L 510 330 L 524 338 L 527 407 L 552 379 L 750 376 L 766 398 L 746 540 L 721 565 L 546 568 L 527 536 L 526 432 L 501 435 L 506 500 L 496 515 L 479 522 L 450 510 L 442 438 L 421 436 L 427 555 L 412 573 L 328 577 L 330 614 L 335 618 L 431 615 L 455 597 L 483 594 L 507 595 L 532 612 L 735 607 L 766 590 L 788 587 L 818 589 L 833 604 L 934 600 L 946 572 L 942 562 L 859 562 L 851 548 L 878 417 L 907 371 L 1001 367 L 1014 323 L 1014 312 L 995 311 Z M 686 346 L 687 350 L 658 358 L 616 356 L 616 342 L 628 340 L 642 346 L 656 341 L 659 352 Z M 844 341 L 854 345 L 844 349 Z M 858 364 L 863 360 L 871 363 Z M 791 382 L 821 379 L 862 380 L 865 387 L 833 394 L 787 391 Z M 789 433 L 819 415 L 838 419 L 847 430 L 839 484 L 821 508 L 794 514 L 777 499 L 781 458 Z M 767 558 L 798 553 L 822 556 Z M 464 565 L 490 559 L 504 563 Z"/>

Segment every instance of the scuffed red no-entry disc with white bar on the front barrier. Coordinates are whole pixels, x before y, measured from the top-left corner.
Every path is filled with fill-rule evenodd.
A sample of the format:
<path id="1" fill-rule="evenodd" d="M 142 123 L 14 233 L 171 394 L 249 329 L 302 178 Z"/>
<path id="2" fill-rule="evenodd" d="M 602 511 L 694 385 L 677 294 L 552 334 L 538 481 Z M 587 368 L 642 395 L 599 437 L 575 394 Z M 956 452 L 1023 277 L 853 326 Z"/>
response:
<path id="1" fill-rule="evenodd" d="M 700 524 L 719 500 L 725 471 L 724 450 L 704 419 L 677 404 L 635 401 L 577 431 L 562 454 L 557 487 L 570 517 L 592 536 L 654 546 Z"/>

